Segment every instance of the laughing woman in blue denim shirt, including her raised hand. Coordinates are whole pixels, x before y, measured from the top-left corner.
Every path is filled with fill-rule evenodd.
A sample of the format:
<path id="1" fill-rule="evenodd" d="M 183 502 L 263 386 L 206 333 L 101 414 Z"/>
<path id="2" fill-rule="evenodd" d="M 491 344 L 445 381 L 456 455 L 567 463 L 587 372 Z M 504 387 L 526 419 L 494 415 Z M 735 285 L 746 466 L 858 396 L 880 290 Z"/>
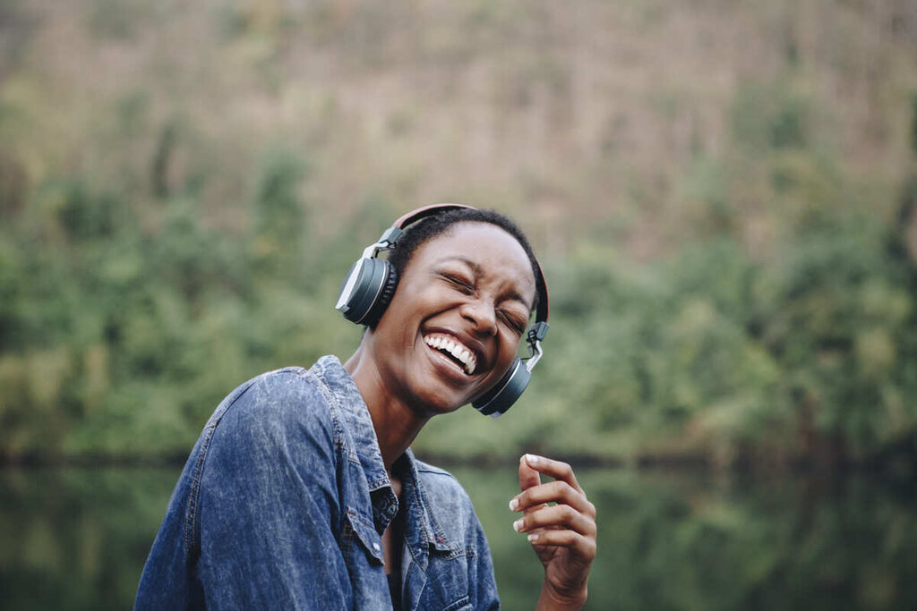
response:
<path id="1" fill-rule="evenodd" d="M 374 256 L 388 245 L 370 246 L 342 289 L 338 309 L 355 307 L 368 324 L 345 365 L 326 356 L 264 374 L 217 407 L 172 495 L 137 608 L 499 606 L 468 496 L 409 445 L 433 416 L 506 386 L 547 291 L 525 235 L 502 215 L 417 212 L 396 224 L 421 219 L 400 239 L 401 227 L 383 235 L 397 239 L 387 264 Z M 365 307 L 354 285 L 372 266 L 387 281 Z M 545 566 L 538 608 L 579 608 L 595 508 L 566 464 L 526 454 L 519 483 L 513 527 Z"/>

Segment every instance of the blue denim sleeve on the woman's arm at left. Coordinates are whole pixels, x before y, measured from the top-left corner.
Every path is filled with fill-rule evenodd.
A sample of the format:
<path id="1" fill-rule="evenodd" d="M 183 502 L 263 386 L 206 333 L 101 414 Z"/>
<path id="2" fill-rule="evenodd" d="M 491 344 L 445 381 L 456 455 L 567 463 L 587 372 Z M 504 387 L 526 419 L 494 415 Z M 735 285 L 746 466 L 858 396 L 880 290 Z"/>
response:
<path id="1" fill-rule="evenodd" d="M 346 608 L 334 426 L 302 376 L 262 376 L 215 426 L 197 501 L 196 578 L 213 608 Z"/>

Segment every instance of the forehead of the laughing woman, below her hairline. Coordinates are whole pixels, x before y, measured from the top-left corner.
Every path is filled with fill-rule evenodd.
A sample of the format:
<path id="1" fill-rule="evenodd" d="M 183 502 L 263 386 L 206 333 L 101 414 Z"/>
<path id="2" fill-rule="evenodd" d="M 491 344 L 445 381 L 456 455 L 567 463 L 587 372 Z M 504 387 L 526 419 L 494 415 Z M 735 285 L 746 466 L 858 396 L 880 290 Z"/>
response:
<path id="1" fill-rule="evenodd" d="M 481 274 L 513 284 L 521 294 L 535 299 L 535 276 L 525 249 L 502 227 L 490 223 L 465 222 L 417 247 L 411 264 L 434 265 L 457 260 L 477 267 Z"/>

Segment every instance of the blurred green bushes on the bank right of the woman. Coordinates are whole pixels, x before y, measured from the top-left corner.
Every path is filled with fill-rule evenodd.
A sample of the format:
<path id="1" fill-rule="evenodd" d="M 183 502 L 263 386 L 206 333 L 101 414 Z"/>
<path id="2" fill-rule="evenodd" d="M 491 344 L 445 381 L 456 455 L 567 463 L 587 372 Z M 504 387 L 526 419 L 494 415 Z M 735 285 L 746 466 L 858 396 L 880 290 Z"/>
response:
<path id="1" fill-rule="evenodd" d="M 830 155 L 788 151 L 806 131 L 794 108 L 756 112 L 770 136 L 749 147 L 757 128 L 736 128 L 730 155 L 689 176 L 712 208 L 691 245 L 644 265 L 594 243 L 548 260 L 553 329 L 526 416 L 490 433 L 466 416 L 471 442 L 433 422 L 423 447 L 823 467 L 913 456 L 917 267 L 901 242 L 914 195 L 899 219 L 878 218 Z M 775 177 L 761 197 L 786 223 L 757 256 L 730 196 L 750 157 Z"/>

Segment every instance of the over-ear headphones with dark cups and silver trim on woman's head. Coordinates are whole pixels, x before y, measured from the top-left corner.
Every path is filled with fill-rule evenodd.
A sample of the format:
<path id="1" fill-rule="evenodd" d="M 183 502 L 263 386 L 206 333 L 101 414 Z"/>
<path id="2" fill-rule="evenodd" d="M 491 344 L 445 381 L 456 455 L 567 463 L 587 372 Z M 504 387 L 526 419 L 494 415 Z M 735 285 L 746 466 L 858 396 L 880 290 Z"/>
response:
<path id="1" fill-rule="evenodd" d="M 356 263 L 350 266 L 347 279 L 341 285 L 337 295 L 335 309 L 344 314 L 350 322 L 372 326 L 382 316 L 382 312 L 392 300 L 395 288 L 398 286 L 398 274 L 387 260 L 378 258 L 383 250 L 392 250 L 398 243 L 398 238 L 404 233 L 405 227 L 414 224 L 427 216 L 444 213 L 449 210 L 460 209 L 477 210 L 473 206 L 460 203 L 435 203 L 413 212 L 404 214 L 386 229 L 375 244 L 363 250 L 363 255 Z M 528 330 L 526 343 L 530 356 L 525 360 L 514 357 L 513 364 L 503 375 L 499 382 L 487 390 L 480 397 L 471 401 L 471 405 L 482 414 L 498 418 L 522 396 L 528 381 L 532 377 L 532 369 L 543 354 L 541 342 L 547 335 L 547 284 L 545 275 L 536 261 L 537 275 L 535 278 L 538 293 L 538 307 L 536 308 L 535 322 Z"/>

